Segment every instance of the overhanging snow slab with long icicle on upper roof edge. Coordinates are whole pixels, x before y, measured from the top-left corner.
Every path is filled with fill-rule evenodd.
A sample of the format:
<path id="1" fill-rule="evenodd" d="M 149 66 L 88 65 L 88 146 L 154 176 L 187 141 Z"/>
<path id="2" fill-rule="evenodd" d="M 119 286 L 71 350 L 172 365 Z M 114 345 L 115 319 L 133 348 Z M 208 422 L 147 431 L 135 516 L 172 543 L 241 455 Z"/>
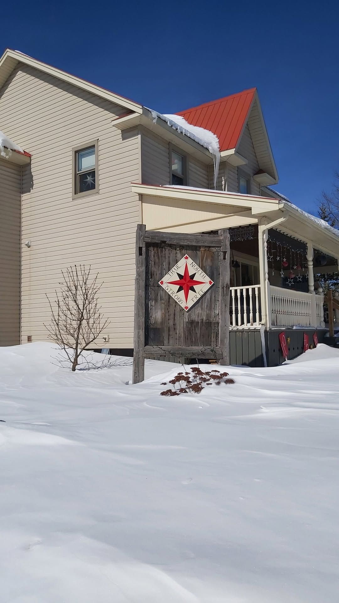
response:
<path id="1" fill-rule="evenodd" d="M 213 159 L 214 167 L 214 188 L 217 190 L 218 185 L 218 174 L 220 166 L 220 150 L 219 150 L 219 139 L 215 134 L 204 128 L 200 128 L 197 125 L 191 125 L 181 115 L 163 115 L 153 109 L 148 109 L 153 117 L 153 124 L 156 124 L 157 118 L 159 117 L 162 121 L 165 121 L 168 126 L 180 132 L 184 136 L 188 136 L 192 140 L 195 140 L 199 145 L 209 150 Z"/>

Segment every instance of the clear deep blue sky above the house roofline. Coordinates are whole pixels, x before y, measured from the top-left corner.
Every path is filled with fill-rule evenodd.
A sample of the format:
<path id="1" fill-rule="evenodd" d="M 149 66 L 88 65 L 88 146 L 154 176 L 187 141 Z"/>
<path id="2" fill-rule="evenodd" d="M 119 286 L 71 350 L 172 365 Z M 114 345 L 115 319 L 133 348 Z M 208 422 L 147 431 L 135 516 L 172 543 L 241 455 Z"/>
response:
<path id="1" fill-rule="evenodd" d="M 256 86 L 277 190 L 312 213 L 331 190 L 339 169 L 337 2 L 19 0 L 1 12 L 2 49 L 160 112 Z"/>

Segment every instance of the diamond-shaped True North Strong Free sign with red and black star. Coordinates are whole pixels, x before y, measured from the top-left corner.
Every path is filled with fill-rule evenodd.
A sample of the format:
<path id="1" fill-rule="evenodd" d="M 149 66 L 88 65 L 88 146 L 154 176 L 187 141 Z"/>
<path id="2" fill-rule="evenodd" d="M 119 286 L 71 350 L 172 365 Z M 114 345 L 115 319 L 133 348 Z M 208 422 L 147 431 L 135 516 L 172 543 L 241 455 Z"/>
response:
<path id="1" fill-rule="evenodd" d="M 187 312 L 214 282 L 186 255 L 159 280 L 159 285 Z"/>

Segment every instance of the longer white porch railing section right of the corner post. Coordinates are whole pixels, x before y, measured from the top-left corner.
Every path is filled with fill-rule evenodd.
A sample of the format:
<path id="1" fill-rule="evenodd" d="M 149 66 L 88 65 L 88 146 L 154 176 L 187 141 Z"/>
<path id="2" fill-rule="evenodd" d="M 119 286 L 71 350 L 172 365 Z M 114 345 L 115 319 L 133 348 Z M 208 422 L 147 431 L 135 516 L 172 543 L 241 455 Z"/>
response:
<path id="1" fill-rule="evenodd" d="M 270 286 L 271 326 L 315 327 L 323 324 L 323 295 Z M 315 315 L 312 304 L 315 301 Z"/>

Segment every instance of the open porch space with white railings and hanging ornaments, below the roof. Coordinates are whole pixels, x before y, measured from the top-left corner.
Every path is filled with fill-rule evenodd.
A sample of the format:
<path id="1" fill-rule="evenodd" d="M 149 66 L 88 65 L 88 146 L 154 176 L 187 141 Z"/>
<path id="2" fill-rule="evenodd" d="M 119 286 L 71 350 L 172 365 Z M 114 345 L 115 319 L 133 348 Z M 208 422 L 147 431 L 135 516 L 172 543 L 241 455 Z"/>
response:
<path id="1" fill-rule="evenodd" d="M 230 239 L 230 329 L 323 329 L 324 296 L 314 273 L 330 271 L 334 258 L 274 229 L 260 241 L 258 226 L 230 229 Z M 313 257 L 323 266 L 313 266 Z"/>

